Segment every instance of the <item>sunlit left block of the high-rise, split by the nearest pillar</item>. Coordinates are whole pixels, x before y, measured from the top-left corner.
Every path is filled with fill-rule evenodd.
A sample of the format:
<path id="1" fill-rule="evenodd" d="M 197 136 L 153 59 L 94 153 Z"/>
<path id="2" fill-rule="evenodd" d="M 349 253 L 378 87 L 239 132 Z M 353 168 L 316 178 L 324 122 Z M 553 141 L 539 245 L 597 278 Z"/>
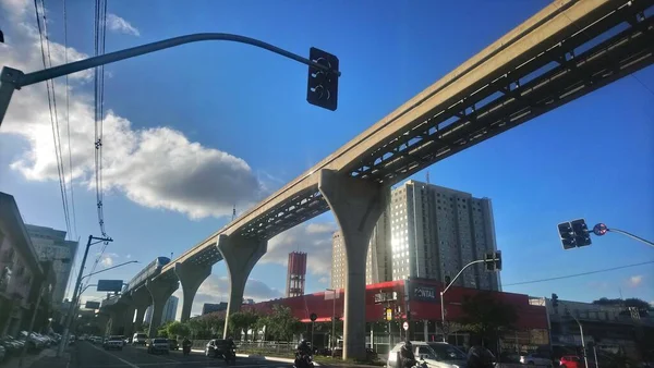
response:
<path id="1" fill-rule="evenodd" d="M 385 211 L 373 229 L 365 262 L 365 283 L 375 284 L 392 278 L 389 218 Z M 331 236 L 331 289 L 346 287 L 346 248 L 342 235 L 337 231 Z"/>

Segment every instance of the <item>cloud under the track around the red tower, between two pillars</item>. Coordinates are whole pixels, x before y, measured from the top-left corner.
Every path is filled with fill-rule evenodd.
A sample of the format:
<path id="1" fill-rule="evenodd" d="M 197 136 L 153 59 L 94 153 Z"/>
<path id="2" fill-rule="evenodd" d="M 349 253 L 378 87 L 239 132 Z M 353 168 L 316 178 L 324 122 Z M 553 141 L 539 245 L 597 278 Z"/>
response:
<path id="1" fill-rule="evenodd" d="M 337 230 L 332 222 L 302 223 L 272 237 L 262 262 L 286 266 L 289 253 L 306 253 L 306 269 L 315 275 L 328 277 L 331 271 L 331 235 Z"/>

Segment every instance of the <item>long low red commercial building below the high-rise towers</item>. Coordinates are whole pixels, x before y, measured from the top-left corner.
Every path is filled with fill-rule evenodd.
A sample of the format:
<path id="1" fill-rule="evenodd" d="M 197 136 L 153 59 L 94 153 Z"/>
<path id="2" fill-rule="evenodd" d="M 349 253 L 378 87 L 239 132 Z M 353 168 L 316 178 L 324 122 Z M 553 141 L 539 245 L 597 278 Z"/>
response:
<path id="1" fill-rule="evenodd" d="M 386 308 L 392 308 L 393 322 L 390 323 L 391 344 L 404 340 L 407 332 L 402 326 L 409 323 L 413 340 L 440 341 L 440 291 L 443 286 L 434 280 L 398 280 L 366 286 L 366 343 L 378 353 L 388 351 L 389 333 L 386 323 Z M 465 287 L 450 287 L 445 294 L 446 320 L 457 321 L 462 316 L 461 300 L 476 293 L 487 293 L 498 300 L 512 305 L 518 311 L 517 330 L 502 340 L 505 349 L 514 348 L 516 342 L 522 348 L 548 345 L 547 312 L 544 306 L 530 304 L 530 297 L 522 294 L 487 292 Z M 334 297 L 336 294 L 336 298 Z M 386 299 L 387 302 L 384 302 Z M 292 310 L 295 318 L 311 323 L 310 316 L 317 316 L 316 322 L 331 322 L 332 316 L 343 315 L 343 290 L 336 293 L 325 291 L 304 296 L 280 298 L 249 306 L 261 312 L 268 312 L 274 305 L 283 305 Z M 245 307 L 245 306 L 244 306 Z M 410 317 L 409 317 L 410 315 Z M 408 318 L 409 317 L 409 318 Z M 409 320 L 408 320 L 409 319 Z M 329 331 L 326 323 L 316 323 L 314 341 L 316 346 L 329 345 Z M 448 324 L 446 324 L 447 328 Z M 449 342 L 458 346 L 468 345 L 469 333 L 457 323 L 449 327 Z M 310 329 L 307 329 L 310 331 Z M 338 331 L 338 329 L 337 329 Z M 372 346 L 371 346 L 372 340 Z"/>

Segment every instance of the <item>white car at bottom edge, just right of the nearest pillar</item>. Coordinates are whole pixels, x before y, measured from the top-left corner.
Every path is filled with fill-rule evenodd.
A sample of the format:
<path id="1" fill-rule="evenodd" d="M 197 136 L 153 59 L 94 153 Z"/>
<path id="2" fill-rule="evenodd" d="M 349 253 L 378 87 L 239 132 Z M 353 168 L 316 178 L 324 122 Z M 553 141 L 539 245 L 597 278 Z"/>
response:
<path id="1" fill-rule="evenodd" d="M 448 343 L 412 341 L 413 355 L 428 368 L 465 368 L 467 355 Z M 398 367 L 398 355 L 404 343 L 398 343 L 388 353 L 387 368 Z"/>

